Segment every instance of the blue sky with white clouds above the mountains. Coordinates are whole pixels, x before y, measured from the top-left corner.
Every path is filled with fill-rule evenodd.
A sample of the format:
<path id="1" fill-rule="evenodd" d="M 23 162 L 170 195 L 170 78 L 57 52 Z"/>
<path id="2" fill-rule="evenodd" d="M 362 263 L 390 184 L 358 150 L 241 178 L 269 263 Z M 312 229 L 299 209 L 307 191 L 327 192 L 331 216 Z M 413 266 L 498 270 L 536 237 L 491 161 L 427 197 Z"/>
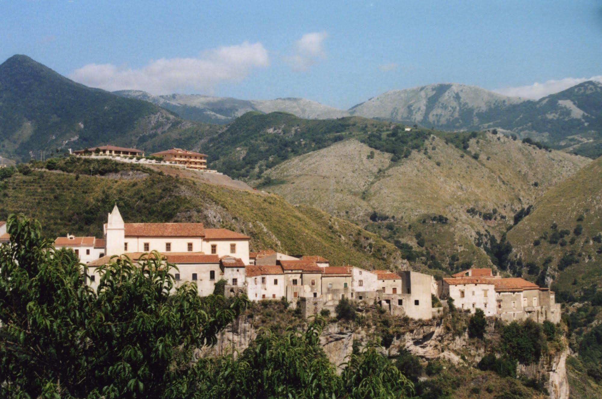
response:
<path id="1" fill-rule="evenodd" d="M 602 0 L 0 0 L 0 62 L 16 53 L 105 90 L 345 109 L 441 82 L 539 98 L 602 81 Z"/>

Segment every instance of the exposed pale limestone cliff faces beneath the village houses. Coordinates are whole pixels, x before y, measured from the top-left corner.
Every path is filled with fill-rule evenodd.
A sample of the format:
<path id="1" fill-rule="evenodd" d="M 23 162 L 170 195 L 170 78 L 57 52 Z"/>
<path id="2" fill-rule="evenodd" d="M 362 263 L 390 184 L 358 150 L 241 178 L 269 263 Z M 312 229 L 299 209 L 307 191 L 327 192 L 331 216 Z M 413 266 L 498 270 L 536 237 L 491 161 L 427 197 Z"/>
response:
<path id="1" fill-rule="evenodd" d="M 373 331 L 363 328 L 349 328 L 340 324 L 328 324 L 320 337 L 326 356 L 337 365 L 338 372 L 344 368 L 344 362 L 353 352 L 353 342 L 364 346 L 373 337 Z M 495 340 L 494 322 L 488 324 L 487 338 Z M 256 329 L 252 318 L 238 318 L 218 336 L 214 347 L 201 351 L 205 356 L 219 356 L 232 350 L 242 352 L 255 339 Z M 454 364 L 467 362 L 476 364 L 486 353 L 486 346 L 481 341 L 469 340 L 468 334 L 455 336 L 441 320 L 411 320 L 405 332 L 394 338 L 388 348 L 382 348 L 385 356 L 396 356 L 400 350 L 406 349 L 423 359 L 445 359 Z M 462 359 L 461 355 L 464 355 Z M 538 364 L 519 365 L 518 373 L 529 377 L 547 380 L 550 399 L 568 399 L 569 385 L 566 375 L 566 356 L 568 348 L 562 352 L 543 357 Z"/>

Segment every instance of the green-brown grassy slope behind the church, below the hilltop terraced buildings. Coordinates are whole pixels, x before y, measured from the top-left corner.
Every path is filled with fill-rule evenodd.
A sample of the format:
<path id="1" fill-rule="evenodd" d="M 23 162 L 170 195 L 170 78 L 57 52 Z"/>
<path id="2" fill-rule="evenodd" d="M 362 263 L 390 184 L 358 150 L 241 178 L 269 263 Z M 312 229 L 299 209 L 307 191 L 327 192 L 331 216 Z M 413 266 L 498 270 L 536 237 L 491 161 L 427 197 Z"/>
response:
<path id="1" fill-rule="evenodd" d="M 0 220 L 23 212 L 39 219 L 48 237 L 100 237 L 102 223 L 117 203 L 125 221 L 204 222 L 249 234 L 252 249 L 320 254 L 334 264 L 367 268 L 404 264 L 393 245 L 312 207 L 293 206 L 277 195 L 175 177 L 169 175 L 169 167 L 161 173 L 120 165 L 122 171 L 109 175 L 122 178 L 37 170 L 14 174 L 0 184 Z"/>

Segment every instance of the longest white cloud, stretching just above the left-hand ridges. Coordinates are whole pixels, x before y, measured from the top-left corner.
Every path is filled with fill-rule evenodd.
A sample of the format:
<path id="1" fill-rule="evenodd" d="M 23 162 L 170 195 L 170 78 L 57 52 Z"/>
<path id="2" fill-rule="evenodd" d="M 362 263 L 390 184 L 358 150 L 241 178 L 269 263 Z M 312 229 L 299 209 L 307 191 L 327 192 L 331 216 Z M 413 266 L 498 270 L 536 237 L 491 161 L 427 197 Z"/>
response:
<path id="1" fill-rule="evenodd" d="M 113 64 L 88 64 L 76 69 L 69 78 L 105 90 L 144 90 L 152 94 L 169 94 L 182 90 L 211 93 L 216 85 L 240 81 L 255 67 L 270 64 L 261 43 L 245 41 L 235 46 L 219 47 L 197 58 L 161 58 L 144 67 L 131 69 Z"/>

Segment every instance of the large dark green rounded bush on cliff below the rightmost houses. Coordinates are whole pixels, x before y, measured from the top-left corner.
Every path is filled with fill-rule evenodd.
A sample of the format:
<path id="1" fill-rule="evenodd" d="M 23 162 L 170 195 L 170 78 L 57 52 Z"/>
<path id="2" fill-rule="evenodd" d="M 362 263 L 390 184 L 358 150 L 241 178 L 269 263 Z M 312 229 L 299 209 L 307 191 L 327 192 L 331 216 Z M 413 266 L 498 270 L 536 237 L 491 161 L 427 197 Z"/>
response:
<path id="1" fill-rule="evenodd" d="M 542 352 L 547 350 L 541 324 L 527 319 L 522 324 L 513 321 L 503 327 L 501 349 L 510 359 L 516 359 L 521 364 L 539 361 Z"/>

